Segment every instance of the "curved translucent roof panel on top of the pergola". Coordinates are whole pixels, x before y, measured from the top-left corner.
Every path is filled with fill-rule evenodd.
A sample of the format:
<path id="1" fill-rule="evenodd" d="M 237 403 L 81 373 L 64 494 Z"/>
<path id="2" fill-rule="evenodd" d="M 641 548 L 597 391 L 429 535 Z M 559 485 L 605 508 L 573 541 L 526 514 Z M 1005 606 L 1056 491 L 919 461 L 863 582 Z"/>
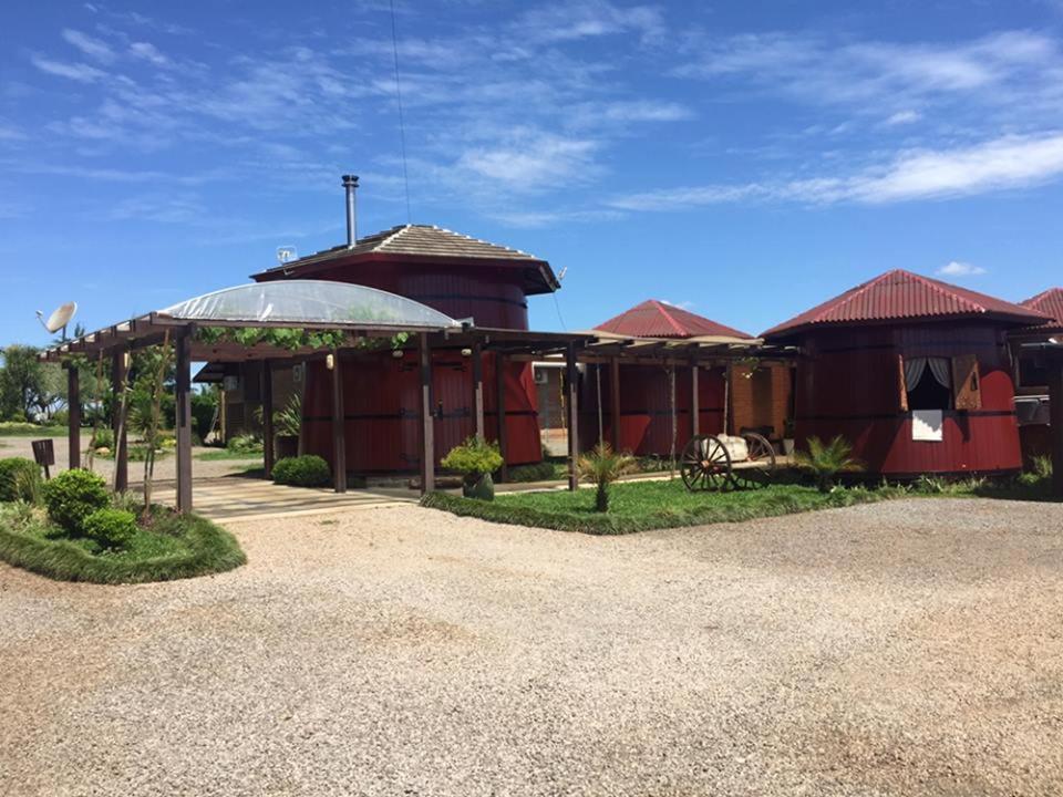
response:
<path id="1" fill-rule="evenodd" d="M 274 322 L 443 329 L 458 321 L 405 297 L 328 280 L 251 282 L 205 293 L 159 310 L 184 321 Z"/>

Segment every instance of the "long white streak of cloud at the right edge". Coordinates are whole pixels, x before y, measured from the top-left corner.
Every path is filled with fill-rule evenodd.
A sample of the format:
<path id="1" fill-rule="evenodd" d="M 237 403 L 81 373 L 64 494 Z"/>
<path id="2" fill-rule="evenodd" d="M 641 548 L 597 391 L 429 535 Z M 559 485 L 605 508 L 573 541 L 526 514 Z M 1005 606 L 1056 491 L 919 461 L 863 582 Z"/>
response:
<path id="1" fill-rule="evenodd" d="M 1063 133 L 1053 133 L 1004 136 L 957 149 L 906 152 L 885 165 L 847 176 L 664 188 L 615 197 L 607 204 L 625 210 L 680 210 L 751 199 L 878 205 L 1024 188 L 1061 176 Z"/>

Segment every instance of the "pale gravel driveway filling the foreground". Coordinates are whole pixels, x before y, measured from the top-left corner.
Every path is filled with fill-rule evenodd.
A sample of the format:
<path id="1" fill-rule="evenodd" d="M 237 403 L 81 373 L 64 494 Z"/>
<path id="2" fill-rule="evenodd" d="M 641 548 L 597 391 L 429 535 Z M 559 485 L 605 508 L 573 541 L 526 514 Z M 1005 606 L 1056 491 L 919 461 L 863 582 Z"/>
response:
<path id="1" fill-rule="evenodd" d="M 231 528 L 194 581 L 0 566 L 0 794 L 1063 793 L 1063 505 Z"/>

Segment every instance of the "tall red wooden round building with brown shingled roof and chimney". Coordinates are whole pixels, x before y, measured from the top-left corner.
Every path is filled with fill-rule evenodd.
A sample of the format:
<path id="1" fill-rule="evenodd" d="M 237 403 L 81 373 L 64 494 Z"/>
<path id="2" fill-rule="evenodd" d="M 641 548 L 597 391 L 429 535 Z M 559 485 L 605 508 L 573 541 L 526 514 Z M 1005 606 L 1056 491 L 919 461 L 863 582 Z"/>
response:
<path id="1" fill-rule="evenodd" d="M 352 282 L 396 293 L 476 327 L 527 330 L 527 298 L 558 288 L 545 260 L 516 249 L 426 225 L 394 227 L 252 275 L 257 281 L 318 279 Z M 475 432 L 472 352 L 433 351 L 435 453 L 441 458 Z M 354 473 L 415 472 L 421 386 L 415 351 L 345 351 L 347 466 Z M 497 437 L 498 390 L 505 391 L 508 464 L 541 457 L 536 393 L 528 363 L 483 355 L 485 431 Z M 331 375 L 321 360 L 307 363 L 302 446 L 331 465 Z"/>

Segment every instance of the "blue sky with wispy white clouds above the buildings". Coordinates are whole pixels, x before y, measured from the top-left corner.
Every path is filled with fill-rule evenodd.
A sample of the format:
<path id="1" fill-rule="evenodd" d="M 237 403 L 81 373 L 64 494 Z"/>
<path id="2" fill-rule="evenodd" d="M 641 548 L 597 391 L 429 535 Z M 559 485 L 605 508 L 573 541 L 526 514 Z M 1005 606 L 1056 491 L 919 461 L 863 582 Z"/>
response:
<path id="1" fill-rule="evenodd" d="M 858 8 L 856 8 L 858 6 Z M 0 343 L 407 219 L 750 332 L 890 268 L 1063 283 L 1063 0 L 28 2 L 0 10 Z"/>

